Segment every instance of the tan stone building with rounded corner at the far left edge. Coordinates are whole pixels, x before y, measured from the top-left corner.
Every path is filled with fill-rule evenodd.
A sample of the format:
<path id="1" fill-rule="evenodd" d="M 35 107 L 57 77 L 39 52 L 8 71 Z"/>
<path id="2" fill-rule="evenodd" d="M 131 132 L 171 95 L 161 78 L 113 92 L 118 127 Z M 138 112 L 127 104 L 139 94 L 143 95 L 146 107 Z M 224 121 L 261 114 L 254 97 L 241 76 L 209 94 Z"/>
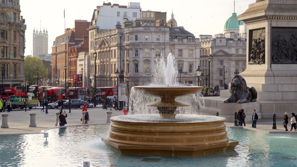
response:
<path id="1" fill-rule="evenodd" d="M 25 86 L 24 52 L 26 25 L 20 1 L 0 1 L 0 64 L 3 86 Z"/>

